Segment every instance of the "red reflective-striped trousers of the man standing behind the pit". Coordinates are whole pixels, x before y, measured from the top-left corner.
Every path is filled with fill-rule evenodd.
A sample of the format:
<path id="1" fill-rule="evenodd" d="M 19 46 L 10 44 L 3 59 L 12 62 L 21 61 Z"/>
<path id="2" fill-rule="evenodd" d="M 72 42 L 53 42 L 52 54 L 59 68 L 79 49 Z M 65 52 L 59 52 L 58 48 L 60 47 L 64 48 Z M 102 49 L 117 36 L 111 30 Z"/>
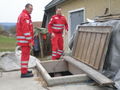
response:
<path id="1" fill-rule="evenodd" d="M 52 60 L 59 59 L 63 54 L 63 37 L 62 34 L 55 34 L 52 37 Z"/>

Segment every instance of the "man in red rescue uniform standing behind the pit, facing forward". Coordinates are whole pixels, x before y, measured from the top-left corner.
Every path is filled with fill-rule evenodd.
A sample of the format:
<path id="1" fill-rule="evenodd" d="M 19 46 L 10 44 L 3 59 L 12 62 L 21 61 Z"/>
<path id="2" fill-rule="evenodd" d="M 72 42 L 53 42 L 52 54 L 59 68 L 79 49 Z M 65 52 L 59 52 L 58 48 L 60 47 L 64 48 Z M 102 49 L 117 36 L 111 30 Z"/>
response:
<path id="1" fill-rule="evenodd" d="M 57 8 L 56 15 L 53 15 L 49 24 L 48 31 L 51 34 L 52 60 L 59 59 L 63 54 L 63 30 L 68 31 L 68 24 L 61 13 L 61 8 Z"/>

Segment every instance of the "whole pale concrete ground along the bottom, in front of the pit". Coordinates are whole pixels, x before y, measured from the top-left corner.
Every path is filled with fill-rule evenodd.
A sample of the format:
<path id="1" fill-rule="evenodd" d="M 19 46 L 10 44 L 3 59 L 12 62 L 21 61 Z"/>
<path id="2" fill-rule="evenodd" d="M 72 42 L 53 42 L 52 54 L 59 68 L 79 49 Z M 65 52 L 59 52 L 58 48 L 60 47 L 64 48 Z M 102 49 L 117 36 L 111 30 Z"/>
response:
<path id="1" fill-rule="evenodd" d="M 40 74 L 40 73 L 39 73 Z M 64 84 L 47 87 L 39 75 L 33 78 L 20 78 L 20 72 L 3 72 L 0 77 L 0 90 L 113 90 L 111 88 L 93 86 L 91 83 Z"/>

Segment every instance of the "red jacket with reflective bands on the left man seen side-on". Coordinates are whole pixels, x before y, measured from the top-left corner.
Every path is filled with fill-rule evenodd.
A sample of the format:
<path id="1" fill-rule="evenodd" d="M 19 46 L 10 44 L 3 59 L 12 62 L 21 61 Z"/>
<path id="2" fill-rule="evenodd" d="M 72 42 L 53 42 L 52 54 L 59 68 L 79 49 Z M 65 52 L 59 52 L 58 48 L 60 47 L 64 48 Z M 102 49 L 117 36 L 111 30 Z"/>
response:
<path id="1" fill-rule="evenodd" d="M 33 25 L 31 16 L 26 10 L 18 17 L 16 38 L 19 46 L 29 46 L 29 43 L 33 43 Z"/>

